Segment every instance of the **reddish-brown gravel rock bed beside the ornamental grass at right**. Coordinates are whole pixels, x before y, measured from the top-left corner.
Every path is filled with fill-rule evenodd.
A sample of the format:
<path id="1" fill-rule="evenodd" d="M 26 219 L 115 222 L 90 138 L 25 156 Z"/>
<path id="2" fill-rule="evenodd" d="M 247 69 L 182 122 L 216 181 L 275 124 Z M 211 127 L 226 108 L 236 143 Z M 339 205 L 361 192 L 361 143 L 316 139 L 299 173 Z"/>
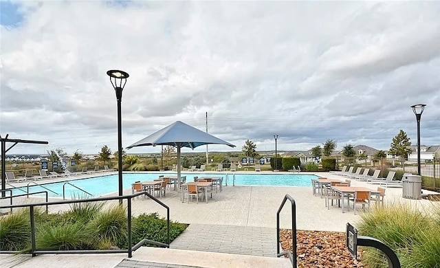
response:
<path id="1" fill-rule="evenodd" d="M 281 247 L 292 252 L 292 230 L 281 230 Z M 298 267 L 360 267 L 364 265 L 355 260 L 345 247 L 344 232 L 301 231 L 296 232 L 296 252 Z M 358 248 L 358 259 L 362 249 Z M 366 267 L 365 267 L 366 268 Z"/>

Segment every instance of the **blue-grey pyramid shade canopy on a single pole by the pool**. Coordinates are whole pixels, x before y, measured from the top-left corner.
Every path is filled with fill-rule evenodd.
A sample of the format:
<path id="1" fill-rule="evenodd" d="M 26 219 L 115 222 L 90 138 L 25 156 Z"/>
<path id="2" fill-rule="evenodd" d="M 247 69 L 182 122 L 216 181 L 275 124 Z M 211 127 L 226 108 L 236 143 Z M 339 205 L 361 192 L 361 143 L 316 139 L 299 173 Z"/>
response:
<path id="1" fill-rule="evenodd" d="M 177 178 L 180 178 L 180 149 L 182 147 L 194 149 L 206 144 L 225 144 L 230 147 L 235 147 L 234 144 L 225 142 L 223 139 L 214 137 L 184 122 L 176 121 L 126 148 L 157 145 L 175 146 L 177 148 Z M 180 179 L 177 181 L 180 186 Z"/>

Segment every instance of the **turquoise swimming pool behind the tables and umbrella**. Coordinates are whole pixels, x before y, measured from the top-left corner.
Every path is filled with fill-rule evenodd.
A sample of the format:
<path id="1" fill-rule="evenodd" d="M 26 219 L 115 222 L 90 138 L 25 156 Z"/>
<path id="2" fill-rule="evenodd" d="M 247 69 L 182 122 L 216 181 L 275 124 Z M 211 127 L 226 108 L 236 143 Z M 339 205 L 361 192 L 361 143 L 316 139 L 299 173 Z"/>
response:
<path id="1" fill-rule="evenodd" d="M 158 172 L 136 172 L 136 173 L 124 173 L 122 178 L 122 186 L 124 189 L 130 189 L 131 183 L 135 181 L 152 181 L 157 179 L 159 175 L 164 173 Z M 173 174 L 170 174 L 173 176 Z M 174 175 L 175 176 L 175 175 Z M 186 176 L 186 181 L 194 181 L 194 177 L 223 177 L 223 185 L 228 183 L 228 186 L 232 186 L 233 175 L 232 174 L 219 174 L 219 173 L 205 173 L 205 174 L 189 174 L 182 173 L 181 176 Z M 235 174 L 235 185 L 236 186 L 298 186 L 298 187 L 311 187 L 311 179 L 316 178 L 315 175 L 298 175 L 298 174 Z M 50 183 L 50 181 L 39 181 L 39 184 L 43 185 L 45 188 L 50 189 L 54 192 L 50 192 L 50 197 L 63 197 L 63 185 L 66 181 Z M 102 175 L 100 177 L 85 178 L 85 179 L 71 179 L 69 183 L 74 186 L 86 190 L 94 197 L 99 197 L 103 194 L 109 194 L 111 192 L 118 192 L 118 175 Z M 80 190 L 74 188 L 69 184 L 65 185 L 65 195 L 66 197 L 80 196 L 83 197 L 85 194 Z M 21 189 L 21 190 L 19 190 Z M 25 187 L 14 189 L 12 194 L 23 194 L 26 191 Z M 39 192 L 45 189 L 41 186 L 29 186 L 29 192 Z"/>

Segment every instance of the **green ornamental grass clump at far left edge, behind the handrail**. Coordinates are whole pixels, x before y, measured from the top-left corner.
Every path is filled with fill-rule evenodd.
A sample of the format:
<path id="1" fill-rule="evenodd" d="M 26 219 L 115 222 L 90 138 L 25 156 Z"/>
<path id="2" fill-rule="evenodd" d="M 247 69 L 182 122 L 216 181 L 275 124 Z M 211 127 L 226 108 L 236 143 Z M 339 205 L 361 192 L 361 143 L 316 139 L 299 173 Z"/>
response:
<path id="1" fill-rule="evenodd" d="M 29 210 L 17 210 L 0 218 L 0 249 L 18 251 L 30 243 Z"/>

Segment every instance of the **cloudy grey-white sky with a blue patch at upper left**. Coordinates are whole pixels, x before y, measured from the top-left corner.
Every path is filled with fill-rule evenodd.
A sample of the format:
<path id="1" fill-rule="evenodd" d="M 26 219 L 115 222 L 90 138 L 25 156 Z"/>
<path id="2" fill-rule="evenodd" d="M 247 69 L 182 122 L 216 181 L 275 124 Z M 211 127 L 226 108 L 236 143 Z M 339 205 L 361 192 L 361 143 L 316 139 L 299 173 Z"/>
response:
<path id="1" fill-rule="evenodd" d="M 208 112 L 235 150 L 387 150 L 399 129 L 417 144 L 419 103 L 440 144 L 440 2 L 1 1 L 0 27 L 0 135 L 49 142 L 11 154 L 117 150 L 109 69 L 130 74 L 124 147 Z"/>

